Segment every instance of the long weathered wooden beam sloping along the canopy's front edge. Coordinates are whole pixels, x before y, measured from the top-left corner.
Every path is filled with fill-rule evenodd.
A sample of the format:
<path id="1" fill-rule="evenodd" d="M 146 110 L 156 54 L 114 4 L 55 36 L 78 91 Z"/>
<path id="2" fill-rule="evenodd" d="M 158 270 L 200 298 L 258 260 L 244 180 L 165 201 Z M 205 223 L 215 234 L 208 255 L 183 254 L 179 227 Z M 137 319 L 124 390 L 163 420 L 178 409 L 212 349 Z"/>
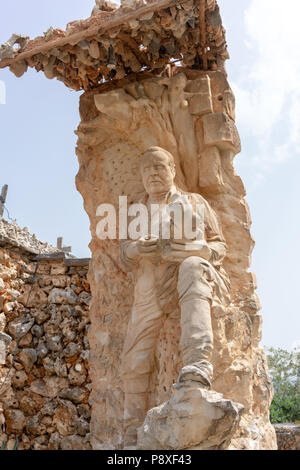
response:
<path id="1" fill-rule="evenodd" d="M 117 26 L 127 23 L 128 21 L 135 20 L 143 15 L 146 15 L 147 13 L 176 6 L 177 4 L 185 3 L 186 1 L 188 0 L 152 0 L 147 5 L 129 12 L 124 13 L 120 10 L 116 10 L 110 14 L 110 17 L 105 15 L 103 18 L 101 17 L 101 14 L 99 14 L 99 18 L 97 18 L 97 16 L 93 16 L 86 20 L 87 24 L 91 23 L 91 26 L 84 31 L 79 31 L 78 33 L 73 33 L 69 36 L 53 39 L 47 42 L 44 41 L 40 46 L 33 47 L 30 50 L 25 50 L 13 59 L 4 59 L 0 61 L 0 68 L 7 67 L 11 64 L 19 62 L 20 60 L 28 59 L 36 54 L 44 54 L 57 47 L 62 47 L 70 43 L 76 44 L 83 39 L 92 38 L 95 35 L 102 35 L 110 29 L 116 28 Z"/>

